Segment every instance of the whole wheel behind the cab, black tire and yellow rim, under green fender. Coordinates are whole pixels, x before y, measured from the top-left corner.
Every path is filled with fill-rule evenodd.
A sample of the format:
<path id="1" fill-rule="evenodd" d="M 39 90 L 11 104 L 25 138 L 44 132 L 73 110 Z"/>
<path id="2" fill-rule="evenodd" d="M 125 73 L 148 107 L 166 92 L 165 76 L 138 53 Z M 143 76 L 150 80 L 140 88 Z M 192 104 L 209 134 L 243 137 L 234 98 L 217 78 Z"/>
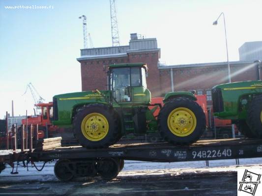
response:
<path id="1" fill-rule="evenodd" d="M 185 111 L 189 111 L 191 112 L 191 114 L 193 113 L 194 115 L 188 115 L 188 112 L 183 112 L 182 110 L 180 118 L 179 108 L 185 108 Z M 178 110 L 178 113 L 174 113 L 175 110 Z M 173 116 L 173 114 L 175 116 Z M 195 119 L 193 118 L 194 116 Z M 172 121 L 170 122 L 171 124 L 168 124 L 168 121 L 170 121 L 169 117 Z M 180 127 L 184 127 L 185 125 L 187 125 L 187 127 L 190 127 L 192 126 L 191 123 L 193 123 L 195 125 L 195 128 L 194 126 L 192 126 L 191 129 L 188 128 L 188 132 L 186 132 L 187 128 L 184 128 L 184 130 L 180 131 L 179 128 L 177 129 L 175 126 L 173 126 L 175 123 Z M 203 135 L 205 125 L 206 122 L 203 109 L 197 102 L 189 98 L 174 98 L 169 100 L 160 110 L 158 116 L 158 130 L 160 131 L 161 136 L 166 141 L 175 145 L 190 145 L 196 142 Z M 169 127 L 171 127 L 173 130 L 171 130 Z M 177 131 L 179 132 L 177 133 Z M 183 131 L 185 131 L 185 133 Z M 183 134 L 183 136 L 180 136 L 180 133 Z"/>

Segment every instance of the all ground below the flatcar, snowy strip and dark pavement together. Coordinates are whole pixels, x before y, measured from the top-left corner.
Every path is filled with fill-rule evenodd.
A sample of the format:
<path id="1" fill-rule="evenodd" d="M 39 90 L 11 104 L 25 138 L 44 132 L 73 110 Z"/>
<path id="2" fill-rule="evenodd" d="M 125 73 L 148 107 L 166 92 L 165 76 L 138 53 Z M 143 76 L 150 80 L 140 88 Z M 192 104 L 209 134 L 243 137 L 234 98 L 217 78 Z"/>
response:
<path id="1" fill-rule="evenodd" d="M 0 196 L 236 196 L 238 169 L 262 169 L 262 158 L 152 163 L 125 161 L 124 169 L 111 181 L 99 177 L 60 182 L 54 162 L 42 172 L 18 167 L 12 175 L 7 167 L 0 173 Z M 41 168 L 43 163 L 36 163 Z"/>

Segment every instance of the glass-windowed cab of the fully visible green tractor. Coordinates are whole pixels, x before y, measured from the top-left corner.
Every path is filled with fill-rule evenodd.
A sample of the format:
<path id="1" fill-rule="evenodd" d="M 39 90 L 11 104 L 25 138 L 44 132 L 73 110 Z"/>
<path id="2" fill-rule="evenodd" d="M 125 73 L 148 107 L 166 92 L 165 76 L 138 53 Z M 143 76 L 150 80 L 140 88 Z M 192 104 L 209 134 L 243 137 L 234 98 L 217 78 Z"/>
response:
<path id="1" fill-rule="evenodd" d="M 150 103 L 151 93 L 146 85 L 146 64 L 114 64 L 108 68 L 108 83 L 113 102 L 146 105 Z"/>

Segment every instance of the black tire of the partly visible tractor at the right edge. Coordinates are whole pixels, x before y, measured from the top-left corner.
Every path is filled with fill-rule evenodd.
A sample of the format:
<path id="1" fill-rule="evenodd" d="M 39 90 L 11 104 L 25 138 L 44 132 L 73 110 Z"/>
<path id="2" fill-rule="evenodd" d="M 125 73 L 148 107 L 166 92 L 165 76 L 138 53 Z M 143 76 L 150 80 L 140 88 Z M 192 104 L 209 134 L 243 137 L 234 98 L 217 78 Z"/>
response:
<path id="1" fill-rule="evenodd" d="M 262 95 L 253 98 L 249 104 L 247 124 L 256 138 L 262 138 Z"/>

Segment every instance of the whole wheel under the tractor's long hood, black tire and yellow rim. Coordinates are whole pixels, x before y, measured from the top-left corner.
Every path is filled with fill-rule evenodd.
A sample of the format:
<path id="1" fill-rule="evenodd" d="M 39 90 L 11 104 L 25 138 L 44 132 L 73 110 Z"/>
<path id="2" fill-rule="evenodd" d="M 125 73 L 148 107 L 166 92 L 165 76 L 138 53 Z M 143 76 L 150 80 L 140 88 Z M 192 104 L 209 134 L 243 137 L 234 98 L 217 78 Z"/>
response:
<path id="1" fill-rule="evenodd" d="M 120 126 L 113 108 L 94 103 L 81 108 L 75 115 L 74 134 L 87 148 L 109 147 L 119 140 Z"/>

